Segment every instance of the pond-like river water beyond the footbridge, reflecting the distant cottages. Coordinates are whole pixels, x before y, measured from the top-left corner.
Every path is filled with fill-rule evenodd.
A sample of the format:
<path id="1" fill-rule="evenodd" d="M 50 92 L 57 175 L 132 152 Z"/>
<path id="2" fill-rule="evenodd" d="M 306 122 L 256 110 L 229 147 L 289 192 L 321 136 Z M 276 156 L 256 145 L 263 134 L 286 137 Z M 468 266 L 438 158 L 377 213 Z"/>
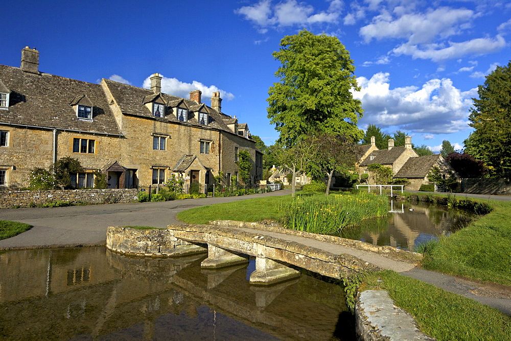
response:
<path id="1" fill-rule="evenodd" d="M 345 228 L 340 236 L 414 251 L 421 243 L 467 226 L 473 214 L 424 202 L 391 201 L 393 213 Z"/>

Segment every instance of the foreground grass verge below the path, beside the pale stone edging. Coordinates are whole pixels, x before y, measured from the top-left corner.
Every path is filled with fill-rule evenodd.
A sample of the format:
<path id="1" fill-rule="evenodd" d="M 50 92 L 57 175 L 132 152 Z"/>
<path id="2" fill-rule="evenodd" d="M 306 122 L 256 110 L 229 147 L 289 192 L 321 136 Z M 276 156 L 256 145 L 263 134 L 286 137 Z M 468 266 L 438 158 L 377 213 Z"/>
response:
<path id="1" fill-rule="evenodd" d="M 471 299 L 393 271 L 365 275 L 363 289 L 384 289 L 437 340 L 509 340 L 511 317 Z"/>

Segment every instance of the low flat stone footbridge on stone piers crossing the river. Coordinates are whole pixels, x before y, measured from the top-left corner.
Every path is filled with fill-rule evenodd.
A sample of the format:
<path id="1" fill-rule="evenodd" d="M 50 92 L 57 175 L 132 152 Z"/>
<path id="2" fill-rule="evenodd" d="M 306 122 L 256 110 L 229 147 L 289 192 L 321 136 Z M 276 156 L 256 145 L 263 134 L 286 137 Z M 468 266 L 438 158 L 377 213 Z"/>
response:
<path id="1" fill-rule="evenodd" d="M 272 224 L 232 221 L 212 225 L 169 225 L 161 230 L 109 227 L 107 248 L 140 256 L 204 253 L 206 269 L 247 263 L 255 257 L 250 284 L 268 285 L 300 276 L 296 267 L 342 279 L 353 272 L 413 269 L 421 254 Z"/>

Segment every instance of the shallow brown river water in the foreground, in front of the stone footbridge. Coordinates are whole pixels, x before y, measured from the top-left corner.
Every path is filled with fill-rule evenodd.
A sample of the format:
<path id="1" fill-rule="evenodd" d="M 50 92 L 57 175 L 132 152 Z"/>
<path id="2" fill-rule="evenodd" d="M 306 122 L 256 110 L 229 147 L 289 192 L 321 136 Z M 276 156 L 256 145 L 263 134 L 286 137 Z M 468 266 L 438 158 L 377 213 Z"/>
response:
<path id="1" fill-rule="evenodd" d="M 104 248 L 6 252 L 0 255 L 0 334 L 317 339 L 330 338 L 345 311 L 339 286 L 301 276 L 249 288 L 245 267 L 201 270 L 202 259 L 105 256 Z M 241 325 L 235 331 L 227 318 L 261 332 Z"/>

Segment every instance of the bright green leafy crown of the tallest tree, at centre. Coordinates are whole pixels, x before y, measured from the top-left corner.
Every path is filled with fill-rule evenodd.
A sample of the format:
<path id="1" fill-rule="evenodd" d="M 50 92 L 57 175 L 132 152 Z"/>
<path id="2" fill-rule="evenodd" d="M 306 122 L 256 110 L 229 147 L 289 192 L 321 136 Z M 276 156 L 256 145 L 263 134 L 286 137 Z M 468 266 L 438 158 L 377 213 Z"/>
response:
<path id="1" fill-rule="evenodd" d="M 362 116 L 350 53 L 338 38 L 303 30 L 281 40 L 273 57 L 282 65 L 280 82 L 268 90 L 268 118 L 280 132 L 278 142 L 292 147 L 303 135 L 344 135 L 355 141 Z"/>

